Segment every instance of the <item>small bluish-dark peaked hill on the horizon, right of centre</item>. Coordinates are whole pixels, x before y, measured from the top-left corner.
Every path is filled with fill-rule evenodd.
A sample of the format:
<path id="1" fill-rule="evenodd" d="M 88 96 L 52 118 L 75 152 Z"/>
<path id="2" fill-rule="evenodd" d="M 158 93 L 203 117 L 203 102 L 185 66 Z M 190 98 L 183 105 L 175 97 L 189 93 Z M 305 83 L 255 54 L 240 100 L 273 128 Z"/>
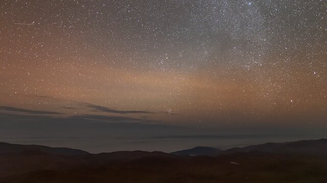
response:
<path id="1" fill-rule="evenodd" d="M 221 149 L 214 147 L 194 147 L 192 149 L 180 150 L 172 152 L 173 155 L 190 155 L 190 156 L 217 156 L 221 153 Z"/>

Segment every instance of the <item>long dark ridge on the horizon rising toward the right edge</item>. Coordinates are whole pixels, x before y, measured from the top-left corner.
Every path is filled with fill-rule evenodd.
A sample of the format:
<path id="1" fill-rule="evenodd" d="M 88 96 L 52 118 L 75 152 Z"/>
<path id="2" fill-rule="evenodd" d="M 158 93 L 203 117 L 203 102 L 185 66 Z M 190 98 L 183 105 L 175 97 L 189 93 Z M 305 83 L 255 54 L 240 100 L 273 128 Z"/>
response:
<path id="1" fill-rule="evenodd" d="M 249 153 L 260 151 L 273 154 L 299 154 L 312 156 L 327 156 L 327 139 L 320 140 L 300 140 L 285 143 L 265 143 L 261 145 L 250 145 L 246 147 L 236 147 L 222 151 L 220 154 L 228 155 L 235 153 Z"/>

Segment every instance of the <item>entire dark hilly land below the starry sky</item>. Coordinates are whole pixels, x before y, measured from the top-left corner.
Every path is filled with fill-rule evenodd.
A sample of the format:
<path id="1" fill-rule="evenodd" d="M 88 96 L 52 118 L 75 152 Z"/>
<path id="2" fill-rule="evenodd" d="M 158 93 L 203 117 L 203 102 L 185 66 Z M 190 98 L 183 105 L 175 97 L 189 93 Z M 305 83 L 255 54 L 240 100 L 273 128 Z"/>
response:
<path id="1" fill-rule="evenodd" d="M 201 149 L 208 148 L 197 151 L 203 154 Z M 76 149 L 0 143 L 0 182 L 320 183 L 327 180 L 327 155 L 321 153 L 326 149 L 327 140 L 321 139 L 216 150 L 218 155 L 209 149 L 211 156 L 157 151 L 95 155 Z"/>

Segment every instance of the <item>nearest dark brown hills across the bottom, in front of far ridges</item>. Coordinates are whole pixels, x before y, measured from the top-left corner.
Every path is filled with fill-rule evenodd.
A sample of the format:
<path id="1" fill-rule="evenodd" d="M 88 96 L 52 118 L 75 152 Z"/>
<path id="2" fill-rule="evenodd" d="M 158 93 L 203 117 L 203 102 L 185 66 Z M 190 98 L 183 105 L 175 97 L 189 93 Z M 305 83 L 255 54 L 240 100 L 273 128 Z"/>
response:
<path id="1" fill-rule="evenodd" d="M 24 159 L 24 157 L 22 158 Z M 87 165 L 67 167 L 67 164 L 62 164 L 61 168 L 46 167 L 53 162 L 45 161 L 46 158 L 44 158 L 34 157 L 35 162 L 42 164 L 39 168 L 36 166 L 28 172 L 14 169 L 10 175 L 0 176 L 0 182 L 320 183 L 327 179 L 327 160 L 312 156 L 237 153 L 221 155 L 217 158 L 196 156 L 182 160 L 144 157 L 138 160 L 93 167 Z M 74 159 L 74 157 L 64 158 Z M 69 161 L 71 160 L 67 160 L 67 162 Z M 26 165 L 28 162 L 21 162 L 21 166 Z M 19 167 L 17 166 L 17 168 Z"/>

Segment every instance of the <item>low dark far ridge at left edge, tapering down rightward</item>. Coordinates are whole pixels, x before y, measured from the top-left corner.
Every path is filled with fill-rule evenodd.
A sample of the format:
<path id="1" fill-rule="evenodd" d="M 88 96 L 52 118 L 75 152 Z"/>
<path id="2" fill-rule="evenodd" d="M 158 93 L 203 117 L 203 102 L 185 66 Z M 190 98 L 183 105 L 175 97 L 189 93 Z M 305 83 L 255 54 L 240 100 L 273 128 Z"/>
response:
<path id="1" fill-rule="evenodd" d="M 0 142 L 0 153 L 20 153 L 24 151 L 39 151 L 43 153 L 62 155 L 62 156 L 78 156 L 87 155 L 84 150 L 65 148 L 65 147 L 48 147 L 42 145 L 20 145 Z"/>

